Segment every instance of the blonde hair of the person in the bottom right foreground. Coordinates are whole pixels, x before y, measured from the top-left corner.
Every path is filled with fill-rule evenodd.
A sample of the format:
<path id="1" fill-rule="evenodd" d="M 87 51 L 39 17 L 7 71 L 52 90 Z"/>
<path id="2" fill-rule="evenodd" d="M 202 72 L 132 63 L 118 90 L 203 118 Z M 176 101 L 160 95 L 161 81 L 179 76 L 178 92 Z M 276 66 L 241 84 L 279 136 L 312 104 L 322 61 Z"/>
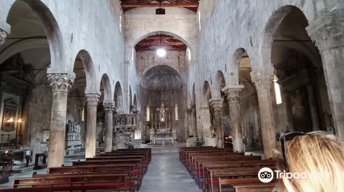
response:
<path id="1" fill-rule="evenodd" d="M 291 178 L 295 191 L 344 191 L 344 153 L 341 142 L 336 136 L 325 132 L 310 132 L 295 136 L 286 141 L 288 170 L 281 158 L 277 160 L 277 169 L 290 173 L 330 173 L 327 176 L 312 178 Z M 287 191 L 279 180 L 277 191 Z"/>

